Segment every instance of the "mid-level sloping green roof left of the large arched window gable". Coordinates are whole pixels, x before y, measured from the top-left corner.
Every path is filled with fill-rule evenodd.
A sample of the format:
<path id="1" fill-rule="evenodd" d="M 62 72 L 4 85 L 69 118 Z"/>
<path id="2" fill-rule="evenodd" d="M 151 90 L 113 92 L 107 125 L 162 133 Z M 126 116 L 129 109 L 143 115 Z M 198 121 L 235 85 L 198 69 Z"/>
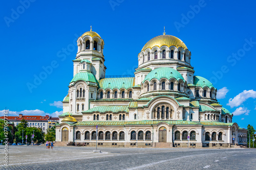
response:
<path id="1" fill-rule="evenodd" d="M 123 106 L 123 105 L 114 105 L 114 106 L 96 106 L 94 108 L 91 108 L 87 111 L 84 111 L 82 113 L 91 113 L 91 112 L 113 112 L 113 113 L 118 113 L 120 111 L 124 112 L 129 112 L 128 106 Z"/>

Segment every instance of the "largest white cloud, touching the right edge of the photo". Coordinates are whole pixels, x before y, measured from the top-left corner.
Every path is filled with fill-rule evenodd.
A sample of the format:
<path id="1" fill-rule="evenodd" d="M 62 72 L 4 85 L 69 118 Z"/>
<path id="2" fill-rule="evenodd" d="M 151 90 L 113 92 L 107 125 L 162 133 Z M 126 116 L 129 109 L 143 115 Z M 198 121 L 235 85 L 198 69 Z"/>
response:
<path id="1" fill-rule="evenodd" d="M 248 98 L 256 98 L 256 91 L 254 90 L 244 90 L 243 92 L 239 93 L 233 99 L 229 99 L 228 104 L 231 108 L 240 106 L 243 102 L 245 102 Z"/>

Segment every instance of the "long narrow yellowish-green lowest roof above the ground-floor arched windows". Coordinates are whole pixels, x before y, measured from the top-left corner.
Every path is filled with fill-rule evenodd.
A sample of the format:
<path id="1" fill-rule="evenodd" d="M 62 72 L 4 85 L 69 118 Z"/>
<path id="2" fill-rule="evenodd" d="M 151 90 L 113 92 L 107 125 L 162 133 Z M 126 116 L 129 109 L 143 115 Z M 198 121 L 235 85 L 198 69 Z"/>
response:
<path id="1" fill-rule="evenodd" d="M 159 123 L 167 123 L 169 125 L 200 125 L 199 122 L 190 122 L 182 120 L 161 121 L 161 120 L 142 120 L 142 121 L 83 121 L 77 122 L 76 126 L 124 126 L 124 125 L 157 125 Z"/>

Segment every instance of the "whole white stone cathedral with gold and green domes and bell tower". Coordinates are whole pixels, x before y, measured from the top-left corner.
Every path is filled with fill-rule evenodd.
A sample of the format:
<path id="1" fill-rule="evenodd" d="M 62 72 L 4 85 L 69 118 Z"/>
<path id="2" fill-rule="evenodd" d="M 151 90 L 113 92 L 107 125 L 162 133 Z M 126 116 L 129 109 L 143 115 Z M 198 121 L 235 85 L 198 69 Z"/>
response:
<path id="1" fill-rule="evenodd" d="M 179 38 L 159 35 L 138 54 L 134 76 L 105 76 L 104 41 L 88 31 L 77 40 L 74 76 L 63 99 L 56 142 L 104 147 L 234 147 L 247 130 L 196 76 Z M 118 62 L 118 61 L 116 61 Z M 117 70 L 118 75 L 118 70 Z"/>

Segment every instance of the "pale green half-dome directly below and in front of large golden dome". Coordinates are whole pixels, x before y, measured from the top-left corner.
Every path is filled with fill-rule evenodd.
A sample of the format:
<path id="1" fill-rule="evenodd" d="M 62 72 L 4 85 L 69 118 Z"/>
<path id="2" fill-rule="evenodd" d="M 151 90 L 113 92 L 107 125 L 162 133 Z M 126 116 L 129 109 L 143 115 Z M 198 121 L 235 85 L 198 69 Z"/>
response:
<path id="1" fill-rule="evenodd" d="M 184 78 L 181 76 L 179 71 L 177 71 L 176 69 L 173 69 L 173 68 L 169 68 L 169 67 L 160 67 L 160 68 L 153 69 L 145 77 L 143 82 L 145 82 L 146 80 L 151 81 L 152 79 L 160 80 L 162 78 L 166 78 L 168 80 L 175 78 L 177 81 L 183 80 L 183 82 L 185 82 Z"/>

